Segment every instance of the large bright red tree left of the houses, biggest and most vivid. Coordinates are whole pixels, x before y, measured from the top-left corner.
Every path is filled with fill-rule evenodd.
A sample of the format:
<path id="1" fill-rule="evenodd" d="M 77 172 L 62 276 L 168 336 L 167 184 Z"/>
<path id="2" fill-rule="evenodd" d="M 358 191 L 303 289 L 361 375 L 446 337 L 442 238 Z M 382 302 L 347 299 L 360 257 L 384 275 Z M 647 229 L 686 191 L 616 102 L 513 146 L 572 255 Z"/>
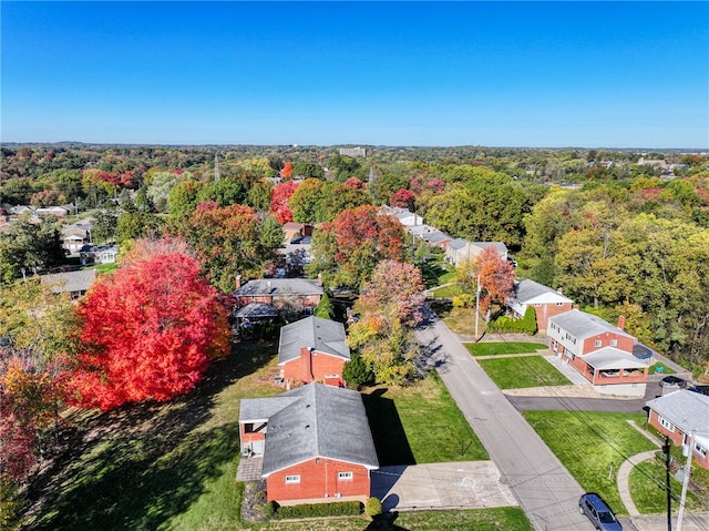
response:
<path id="1" fill-rule="evenodd" d="M 79 306 L 82 351 L 73 401 L 103 410 L 169 400 L 191 390 L 209 359 L 226 354 L 226 319 L 199 263 L 156 254 L 102 277 Z"/>

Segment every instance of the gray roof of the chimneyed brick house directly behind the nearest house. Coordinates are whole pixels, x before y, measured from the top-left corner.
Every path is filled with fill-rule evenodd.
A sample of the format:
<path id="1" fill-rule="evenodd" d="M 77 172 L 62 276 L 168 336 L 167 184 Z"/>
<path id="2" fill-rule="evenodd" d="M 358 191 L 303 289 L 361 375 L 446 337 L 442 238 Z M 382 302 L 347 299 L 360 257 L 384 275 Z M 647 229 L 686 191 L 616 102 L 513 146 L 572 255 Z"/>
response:
<path id="1" fill-rule="evenodd" d="M 280 329 L 278 364 L 300 357 L 300 347 L 312 347 L 319 353 L 350 359 L 346 338 L 342 323 L 316 316 L 297 320 Z"/>

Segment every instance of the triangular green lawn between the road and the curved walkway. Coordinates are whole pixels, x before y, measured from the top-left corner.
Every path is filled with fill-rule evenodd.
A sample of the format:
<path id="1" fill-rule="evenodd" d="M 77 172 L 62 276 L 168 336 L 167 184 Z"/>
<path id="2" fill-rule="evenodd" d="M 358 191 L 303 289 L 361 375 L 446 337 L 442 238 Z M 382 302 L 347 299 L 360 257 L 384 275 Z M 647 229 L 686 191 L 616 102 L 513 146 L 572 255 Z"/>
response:
<path id="1" fill-rule="evenodd" d="M 527 422 L 587 492 L 598 492 L 615 512 L 627 514 L 617 470 L 628 457 L 657 447 L 628 420 L 645 426 L 643 413 L 523 411 Z"/>

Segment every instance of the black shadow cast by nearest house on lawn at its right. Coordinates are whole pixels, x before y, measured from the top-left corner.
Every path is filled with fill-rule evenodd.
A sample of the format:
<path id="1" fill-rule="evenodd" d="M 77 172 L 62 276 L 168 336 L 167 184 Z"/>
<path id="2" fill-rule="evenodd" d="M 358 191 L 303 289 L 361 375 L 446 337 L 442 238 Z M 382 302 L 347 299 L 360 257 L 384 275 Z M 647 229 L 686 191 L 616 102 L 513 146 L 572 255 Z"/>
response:
<path id="1" fill-rule="evenodd" d="M 370 395 L 362 395 L 379 466 L 415 464 L 397 406 L 382 396 L 384 392 L 387 389 L 374 389 Z"/>

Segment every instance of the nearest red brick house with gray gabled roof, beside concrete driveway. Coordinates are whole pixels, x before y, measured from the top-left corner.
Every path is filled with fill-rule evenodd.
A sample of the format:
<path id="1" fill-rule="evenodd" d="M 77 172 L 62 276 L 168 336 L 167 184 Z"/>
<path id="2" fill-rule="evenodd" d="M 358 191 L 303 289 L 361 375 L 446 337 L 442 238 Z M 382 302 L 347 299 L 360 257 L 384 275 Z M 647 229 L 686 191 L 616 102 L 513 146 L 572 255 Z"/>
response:
<path id="1" fill-rule="evenodd" d="M 357 391 L 310 384 L 273 398 L 244 399 L 239 435 L 242 461 L 263 457 L 269 501 L 364 502 L 370 497 L 370 473 L 379 461 Z"/>

